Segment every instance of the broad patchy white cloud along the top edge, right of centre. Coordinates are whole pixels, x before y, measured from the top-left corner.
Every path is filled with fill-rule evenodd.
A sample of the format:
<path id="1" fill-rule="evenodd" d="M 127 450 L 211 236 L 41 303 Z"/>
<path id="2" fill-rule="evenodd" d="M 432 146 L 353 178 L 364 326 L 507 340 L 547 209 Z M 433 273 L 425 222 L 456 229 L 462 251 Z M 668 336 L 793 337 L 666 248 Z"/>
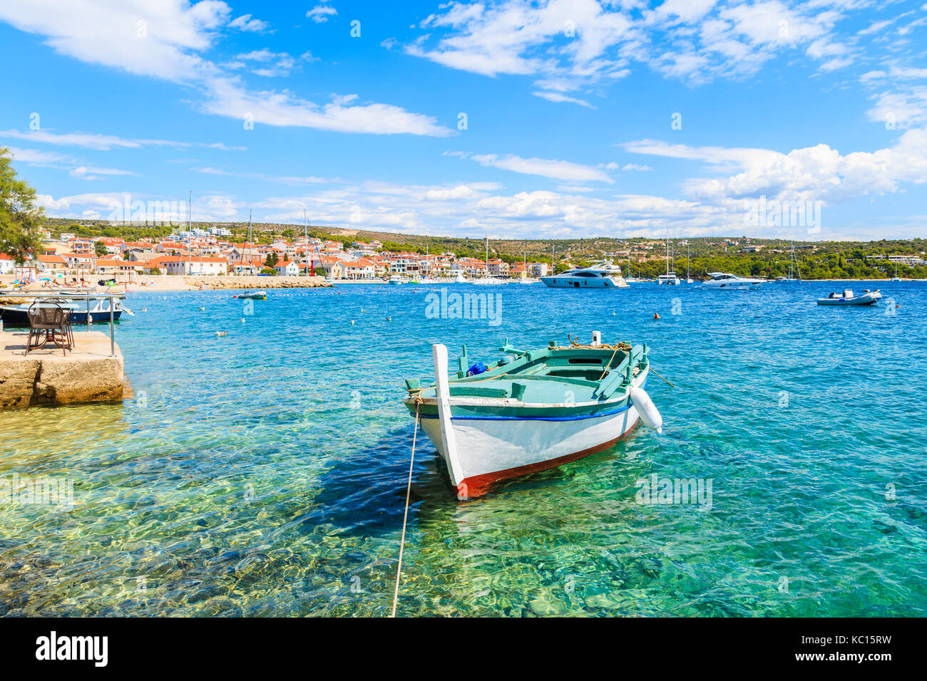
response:
<path id="1" fill-rule="evenodd" d="M 450 2 L 421 22 L 423 34 L 405 49 L 452 69 L 559 82 L 541 88 L 558 92 L 622 78 L 635 61 L 691 82 L 743 78 L 809 44 L 819 68 L 833 70 L 854 61 L 833 32 L 844 9 L 854 7 L 834 6 L 827 0 L 816 6 L 667 0 L 653 9 L 595 0 Z"/>

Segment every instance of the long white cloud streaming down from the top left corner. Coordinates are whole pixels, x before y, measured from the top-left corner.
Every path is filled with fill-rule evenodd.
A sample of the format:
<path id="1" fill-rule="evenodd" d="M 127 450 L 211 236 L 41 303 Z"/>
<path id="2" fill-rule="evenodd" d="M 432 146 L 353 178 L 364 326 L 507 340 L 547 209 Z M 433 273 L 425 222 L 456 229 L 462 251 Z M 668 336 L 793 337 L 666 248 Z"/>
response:
<path id="1" fill-rule="evenodd" d="M 0 4 L 0 20 L 43 35 L 62 55 L 201 88 L 207 99 L 203 110 L 215 115 L 241 118 L 253 113 L 255 120 L 269 125 L 336 132 L 451 133 L 431 117 L 393 105 L 319 106 L 288 91 L 248 92 L 242 82 L 199 55 L 227 27 L 231 11 L 220 0 L 192 5 L 186 0 L 20 0 Z M 234 28 L 251 27 L 253 21 L 235 19 Z M 279 67 L 261 70 L 265 76 L 281 72 Z"/>

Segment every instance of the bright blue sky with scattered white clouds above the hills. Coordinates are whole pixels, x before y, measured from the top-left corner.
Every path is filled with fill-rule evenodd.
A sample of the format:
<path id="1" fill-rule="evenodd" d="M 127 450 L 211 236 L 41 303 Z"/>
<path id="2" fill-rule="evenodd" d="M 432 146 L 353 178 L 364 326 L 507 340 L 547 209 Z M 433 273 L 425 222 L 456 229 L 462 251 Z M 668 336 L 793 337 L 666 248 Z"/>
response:
<path id="1" fill-rule="evenodd" d="M 0 145 L 62 217 L 927 233 L 923 0 L 390 5 L 5 0 Z"/>

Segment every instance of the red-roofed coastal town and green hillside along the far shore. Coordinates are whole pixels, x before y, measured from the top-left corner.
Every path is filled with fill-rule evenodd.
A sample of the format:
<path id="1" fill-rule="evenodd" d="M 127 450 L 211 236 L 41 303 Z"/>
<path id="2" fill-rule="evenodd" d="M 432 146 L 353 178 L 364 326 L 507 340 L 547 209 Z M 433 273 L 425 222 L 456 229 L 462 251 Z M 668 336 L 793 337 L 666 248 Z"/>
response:
<path id="1" fill-rule="evenodd" d="M 773 279 L 789 271 L 805 279 L 919 279 L 927 276 L 927 256 L 921 240 L 832 244 L 792 243 L 750 237 L 696 237 L 673 240 L 603 238 L 593 244 L 541 240 L 473 243 L 439 237 L 382 234 L 298 234 L 295 225 L 237 238 L 230 225 L 205 224 L 175 228 L 163 236 L 139 236 L 129 225 L 124 235 L 79 233 L 86 226 L 40 231 L 41 252 L 17 266 L 12 256 L 0 254 L 0 275 L 18 280 L 66 278 L 69 283 L 115 279 L 131 284 L 151 276 L 274 276 L 324 277 L 329 282 L 404 280 L 538 279 L 592 261 L 607 259 L 627 275 L 655 277 L 666 267 L 702 277 L 706 271 L 733 271 Z M 167 232 L 167 230 L 165 230 Z M 406 241 L 387 241 L 404 237 Z M 484 246 L 483 240 L 476 241 Z M 423 243 L 424 242 L 424 243 Z M 912 248 L 913 246 L 913 248 Z M 544 255 L 546 251 L 546 256 Z M 482 258 L 478 256 L 483 256 Z M 555 271 L 554 271 L 555 270 Z"/>

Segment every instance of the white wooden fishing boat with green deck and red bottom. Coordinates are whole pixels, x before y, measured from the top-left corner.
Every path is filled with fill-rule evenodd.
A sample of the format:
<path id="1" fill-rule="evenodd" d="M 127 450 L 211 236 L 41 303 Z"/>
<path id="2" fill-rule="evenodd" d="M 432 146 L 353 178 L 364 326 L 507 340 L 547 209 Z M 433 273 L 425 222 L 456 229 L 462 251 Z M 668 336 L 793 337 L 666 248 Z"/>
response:
<path id="1" fill-rule="evenodd" d="M 641 418 L 661 432 L 662 418 L 644 386 L 648 347 L 590 345 L 520 350 L 484 364 L 464 355 L 448 376 L 448 351 L 432 346 L 435 385 L 406 381 L 403 402 L 445 460 L 458 498 L 493 483 L 535 473 L 612 447 Z"/>

